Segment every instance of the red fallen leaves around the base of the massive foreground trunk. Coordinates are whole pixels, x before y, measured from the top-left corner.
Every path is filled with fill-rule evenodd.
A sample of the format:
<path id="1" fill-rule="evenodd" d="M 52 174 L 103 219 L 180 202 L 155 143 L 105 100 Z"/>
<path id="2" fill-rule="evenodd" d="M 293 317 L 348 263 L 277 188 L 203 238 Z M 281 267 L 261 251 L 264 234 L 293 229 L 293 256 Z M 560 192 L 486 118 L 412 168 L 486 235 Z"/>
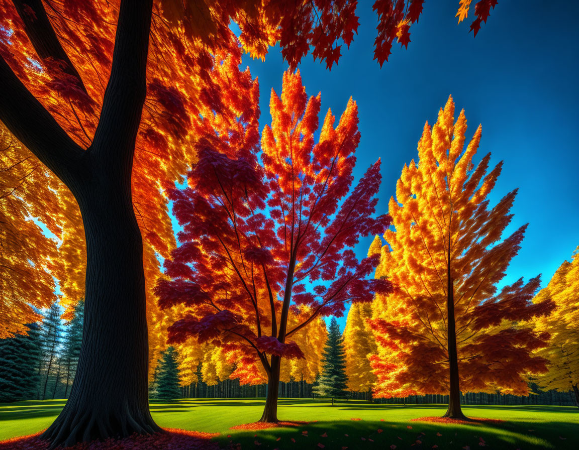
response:
<path id="1" fill-rule="evenodd" d="M 166 433 L 133 434 L 122 439 L 109 438 L 104 441 L 76 444 L 67 450 L 165 450 L 186 448 L 190 450 L 219 450 L 217 442 L 210 441 L 219 433 L 200 433 L 179 429 L 167 429 Z M 50 442 L 40 438 L 41 433 L 15 437 L 0 442 L 0 450 L 48 450 Z"/>

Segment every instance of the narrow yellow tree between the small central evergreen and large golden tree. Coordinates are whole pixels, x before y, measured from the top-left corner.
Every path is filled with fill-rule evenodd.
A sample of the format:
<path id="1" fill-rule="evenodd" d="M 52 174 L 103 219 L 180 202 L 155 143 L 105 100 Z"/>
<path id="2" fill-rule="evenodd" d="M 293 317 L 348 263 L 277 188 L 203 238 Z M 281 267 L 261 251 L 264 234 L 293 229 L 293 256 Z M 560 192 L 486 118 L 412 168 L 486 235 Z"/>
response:
<path id="1" fill-rule="evenodd" d="M 382 240 L 376 236 L 368 250 L 368 256 L 380 254 Z M 346 352 L 346 376 L 348 390 L 371 393 L 376 376 L 372 372 L 368 356 L 376 353 L 376 341 L 369 320 L 372 305 L 353 304 L 348 311 L 344 327 L 344 351 Z"/>

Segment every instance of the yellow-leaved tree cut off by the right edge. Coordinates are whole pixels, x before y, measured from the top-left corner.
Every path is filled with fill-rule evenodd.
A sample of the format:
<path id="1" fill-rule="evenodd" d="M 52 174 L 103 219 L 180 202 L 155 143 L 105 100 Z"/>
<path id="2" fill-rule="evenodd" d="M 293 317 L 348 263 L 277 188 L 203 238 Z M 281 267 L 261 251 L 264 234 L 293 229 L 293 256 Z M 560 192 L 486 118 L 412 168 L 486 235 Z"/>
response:
<path id="1" fill-rule="evenodd" d="M 541 304 L 551 299 L 555 309 L 534 320 L 535 330 L 550 333 L 549 345 L 537 352 L 549 361 L 549 371 L 537 379 L 544 389 L 573 390 L 579 405 L 579 248 L 572 261 L 564 261 L 549 284 L 533 298 Z"/>

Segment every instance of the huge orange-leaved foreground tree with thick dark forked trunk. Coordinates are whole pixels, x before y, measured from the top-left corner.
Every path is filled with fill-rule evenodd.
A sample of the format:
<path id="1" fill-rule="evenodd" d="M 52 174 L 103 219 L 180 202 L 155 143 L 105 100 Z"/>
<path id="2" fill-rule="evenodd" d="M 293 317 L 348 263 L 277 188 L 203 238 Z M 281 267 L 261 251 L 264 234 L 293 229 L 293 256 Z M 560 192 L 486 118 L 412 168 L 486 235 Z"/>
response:
<path id="1" fill-rule="evenodd" d="M 32 216 L 42 216 L 49 228 L 50 216 L 58 217 L 52 231 L 64 238 L 58 259 L 50 243 L 24 246 L 34 250 L 38 265 L 28 264 L 24 250 L 10 245 L 14 256 L 8 257 L 9 282 L 2 281 L 9 284 L 2 289 L 2 331 L 25 332 L 23 324 L 32 316 L 26 303 L 50 303 L 50 275 L 57 271 L 63 305 L 68 301 L 71 312 L 85 297 L 90 324 L 70 399 L 45 438 L 74 444 L 158 430 L 148 411 L 147 375 L 164 332 L 158 328 L 163 321 L 155 320 L 153 286 L 145 280 L 159 275 L 156 254 L 166 257 L 174 247 L 164 189 L 195 158 L 184 149 L 196 141 L 199 120 L 219 112 L 228 88 L 213 82 L 210 72 L 239 53 L 230 21 L 239 25 L 241 45 L 253 56 L 264 57 L 279 40 L 291 67 L 310 47 L 331 67 L 342 43 L 349 45 L 357 31 L 356 5 L 0 1 L 0 121 L 22 144 L 0 176 L 42 180 L 20 183 L 17 194 L 13 183 L 2 191 L 3 197 L 14 194 L 14 206 L 2 211 L 8 219 L 1 222 L 2 235 L 24 242 L 23 233 L 31 230 L 32 239 L 41 241 L 25 209 L 50 204 Z M 57 189 L 47 193 L 50 183 Z M 39 193 L 51 202 L 39 200 Z M 45 271 L 57 260 L 57 267 Z M 31 287 L 43 271 L 42 283 Z M 30 295 L 12 296 L 26 289 Z M 25 310 L 23 322 L 6 308 L 14 301 Z M 155 329 L 151 348 L 147 324 Z M 116 345 L 120 341 L 123 346 Z"/>

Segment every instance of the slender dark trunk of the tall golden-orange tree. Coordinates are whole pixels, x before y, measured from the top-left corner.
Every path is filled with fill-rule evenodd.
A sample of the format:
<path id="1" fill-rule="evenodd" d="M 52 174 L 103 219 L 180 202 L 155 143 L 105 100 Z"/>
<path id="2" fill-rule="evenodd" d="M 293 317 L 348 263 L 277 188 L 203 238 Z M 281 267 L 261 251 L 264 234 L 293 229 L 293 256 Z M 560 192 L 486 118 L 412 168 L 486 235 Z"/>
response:
<path id="1" fill-rule="evenodd" d="M 450 393 L 448 398 L 448 410 L 443 417 L 451 419 L 466 419 L 460 408 L 460 384 L 459 384 L 459 358 L 456 350 L 456 323 L 455 323 L 455 293 L 452 278 L 450 278 L 450 265 L 448 267 L 448 293 L 446 296 L 446 309 L 448 313 L 448 363 L 450 367 Z"/>

